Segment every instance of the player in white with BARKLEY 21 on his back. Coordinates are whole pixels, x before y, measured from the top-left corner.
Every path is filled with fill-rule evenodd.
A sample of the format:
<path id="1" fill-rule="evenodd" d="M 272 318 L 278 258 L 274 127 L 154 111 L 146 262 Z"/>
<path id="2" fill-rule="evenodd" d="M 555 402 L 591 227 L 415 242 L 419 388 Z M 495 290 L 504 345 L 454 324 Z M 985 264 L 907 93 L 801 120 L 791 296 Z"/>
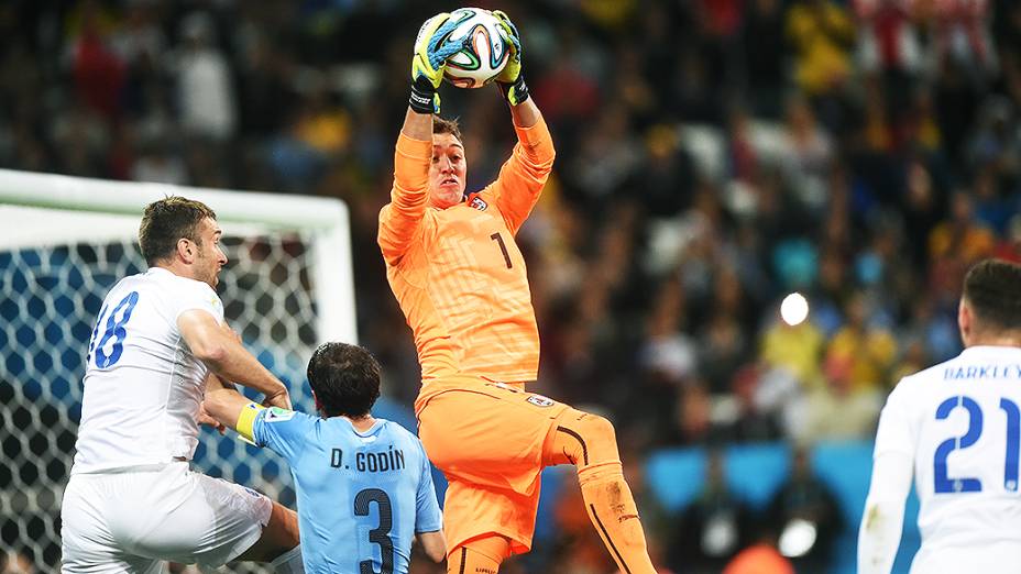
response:
<path id="1" fill-rule="evenodd" d="M 922 532 L 912 574 L 1021 569 L 1021 266 L 975 265 L 957 323 L 960 355 L 904 377 L 882 409 L 861 574 L 893 565 L 912 471 Z"/>

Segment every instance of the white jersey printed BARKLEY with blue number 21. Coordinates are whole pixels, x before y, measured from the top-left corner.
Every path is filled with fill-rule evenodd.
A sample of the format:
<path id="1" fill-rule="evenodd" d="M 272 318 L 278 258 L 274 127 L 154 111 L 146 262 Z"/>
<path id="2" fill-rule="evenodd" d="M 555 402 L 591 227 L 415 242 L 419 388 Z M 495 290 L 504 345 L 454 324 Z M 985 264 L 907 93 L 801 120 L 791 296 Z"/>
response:
<path id="1" fill-rule="evenodd" d="M 912 572 L 1021 567 L 1019 451 L 1021 349 L 973 346 L 897 385 L 876 457 L 914 460 L 922 548 Z"/>

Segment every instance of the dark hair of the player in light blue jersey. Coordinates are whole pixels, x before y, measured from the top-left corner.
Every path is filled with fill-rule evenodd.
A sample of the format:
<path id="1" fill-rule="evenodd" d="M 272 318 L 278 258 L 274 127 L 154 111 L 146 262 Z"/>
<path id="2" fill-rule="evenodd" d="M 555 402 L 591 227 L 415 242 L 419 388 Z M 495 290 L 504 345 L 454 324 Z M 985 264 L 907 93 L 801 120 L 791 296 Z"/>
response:
<path id="1" fill-rule="evenodd" d="M 380 363 L 361 346 L 323 343 L 308 360 L 308 384 L 327 417 L 369 415 L 380 398 Z"/>

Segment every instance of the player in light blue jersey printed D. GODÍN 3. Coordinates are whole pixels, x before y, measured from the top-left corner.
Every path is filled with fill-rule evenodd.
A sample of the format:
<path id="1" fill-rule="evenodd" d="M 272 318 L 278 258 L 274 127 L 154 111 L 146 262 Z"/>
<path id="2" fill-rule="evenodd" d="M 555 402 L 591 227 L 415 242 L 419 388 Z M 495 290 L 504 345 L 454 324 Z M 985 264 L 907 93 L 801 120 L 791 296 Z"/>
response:
<path id="1" fill-rule="evenodd" d="M 210 377 L 206 411 L 290 465 L 306 572 L 406 573 L 411 539 L 440 562 L 442 517 L 418 439 L 370 413 L 380 365 L 364 349 L 326 343 L 308 363 L 318 415 L 252 402 Z"/>

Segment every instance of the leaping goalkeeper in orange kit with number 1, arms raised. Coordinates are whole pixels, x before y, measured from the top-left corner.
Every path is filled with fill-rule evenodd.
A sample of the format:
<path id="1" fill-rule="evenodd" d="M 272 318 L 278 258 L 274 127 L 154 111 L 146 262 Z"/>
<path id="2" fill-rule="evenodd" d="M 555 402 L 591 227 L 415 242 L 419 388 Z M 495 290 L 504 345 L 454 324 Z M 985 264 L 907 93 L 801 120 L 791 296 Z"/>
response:
<path id="1" fill-rule="evenodd" d="M 415 411 L 429 459 L 447 475 L 449 573 L 495 573 L 531 547 L 545 466 L 573 464 L 593 527 L 622 572 L 652 573 L 645 534 L 606 419 L 534 395 L 539 333 L 514 236 L 553 164 L 549 130 L 522 78 L 517 30 L 502 12 L 510 62 L 497 78 L 518 144 L 495 181 L 465 194 L 457 123 L 433 118 L 449 14 L 426 21 L 411 97 L 380 212 L 386 276 L 415 335 L 422 386 Z"/>

